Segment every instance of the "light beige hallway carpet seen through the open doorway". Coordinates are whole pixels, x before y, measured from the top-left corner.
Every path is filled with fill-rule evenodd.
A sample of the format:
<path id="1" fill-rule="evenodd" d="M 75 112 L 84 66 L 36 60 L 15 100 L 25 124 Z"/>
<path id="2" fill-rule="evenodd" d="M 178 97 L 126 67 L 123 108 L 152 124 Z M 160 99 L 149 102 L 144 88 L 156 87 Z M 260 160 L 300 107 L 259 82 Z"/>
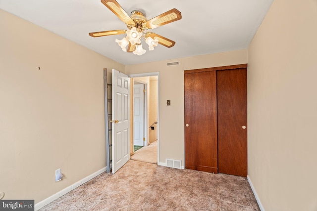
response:
<path id="1" fill-rule="evenodd" d="M 155 141 L 152 144 L 137 150 L 131 156 L 131 159 L 135 161 L 142 161 L 142 162 L 147 162 L 151 164 L 157 164 L 158 163 L 158 141 Z"/>

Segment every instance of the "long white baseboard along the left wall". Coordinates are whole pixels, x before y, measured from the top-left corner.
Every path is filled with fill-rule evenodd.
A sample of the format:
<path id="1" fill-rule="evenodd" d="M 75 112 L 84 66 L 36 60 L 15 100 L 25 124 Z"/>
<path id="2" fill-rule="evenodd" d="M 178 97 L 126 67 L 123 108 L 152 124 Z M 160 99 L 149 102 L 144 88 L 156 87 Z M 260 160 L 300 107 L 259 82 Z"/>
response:
<path id="1" fill-rule="evenodd" d="M 66 193 L 74 190 L 75 188 L 79 187 L 80 185 L 84 184 L 85 182 L 88 182 L 89 180 L 91 180 L 92 178 L 98 176 L 99 174 L 105 172 L 107 169 L 107 167 L 100 169 L 98 171 L 96 171 L 95 173 L 90 174 L 89 176 L 86 176 L 85 178 L 79 180 L 78 182 L 75 182 L 74 184 L 64 188 L 63 190 L 55 193 L 54 195 L 50 196 L 49 198 L 44 199 L 43 201 L 37 203 L 34 205 L 34 209 L 35 211 L 40 210 L 41 208 L 43 208 L 44 206 L 50 204 L 51 202 L 53 202 L 54 200 L 58 199 L 59 197 L 65 195 Z"/>

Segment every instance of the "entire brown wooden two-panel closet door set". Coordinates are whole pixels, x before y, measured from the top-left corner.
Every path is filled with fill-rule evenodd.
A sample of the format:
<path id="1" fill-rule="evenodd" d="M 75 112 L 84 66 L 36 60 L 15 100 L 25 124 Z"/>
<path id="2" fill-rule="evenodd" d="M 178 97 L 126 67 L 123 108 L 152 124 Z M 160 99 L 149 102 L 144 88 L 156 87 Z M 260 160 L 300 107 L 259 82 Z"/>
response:
<path id="1" fill-rule="evenodd" d="M 185 168 L 247 176 L 247 65 L 185 71 Z"/>

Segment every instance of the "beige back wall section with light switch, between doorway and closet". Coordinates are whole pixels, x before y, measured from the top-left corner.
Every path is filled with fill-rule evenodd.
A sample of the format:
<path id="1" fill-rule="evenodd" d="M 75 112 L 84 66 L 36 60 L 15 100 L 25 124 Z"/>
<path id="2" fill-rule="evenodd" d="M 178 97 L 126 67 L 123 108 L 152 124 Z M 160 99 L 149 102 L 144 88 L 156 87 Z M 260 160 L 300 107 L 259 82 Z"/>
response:
<path id="1" fill-rule="evenodd" d="M 179 61 L 167 67 L 167 62 Z M 126 66 L 126 74 L 159 72 L 159 162 L 182 160 L 184 166 L 184 70 L 247 63 L 247 50 L 238 50 Z M 166 100 L 171 105 L 166 106 Z"/>

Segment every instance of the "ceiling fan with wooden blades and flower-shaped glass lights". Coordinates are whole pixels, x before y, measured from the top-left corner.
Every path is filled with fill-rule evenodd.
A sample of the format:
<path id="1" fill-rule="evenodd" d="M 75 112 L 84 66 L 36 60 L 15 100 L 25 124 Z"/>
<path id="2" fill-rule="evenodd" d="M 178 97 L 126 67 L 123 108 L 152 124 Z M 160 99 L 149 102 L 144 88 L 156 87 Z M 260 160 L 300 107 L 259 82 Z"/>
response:
<path id="1" fill-rule="evenodd" d="M 115 42 L 119 44 L 125 52 L 133 52 L 136 55 L 142 55 L 146 52 L 142 48 L 141 38 L 149 45 L 149 50 L 153 50 L 158 44 L 165 47 L 174 46 L 175 42 L 164 38 L 147 30 L 163 26 L 165 24 L 180 20 L 182 14 L 177 9 L 171 9 L 148 20 L 144 14 L 139 10 L 134 10 L 129 16 L 116 0 L 101 0 L 106 7 L 108 7 L 116 16 L 118 16 L 128 27 L 128 30 L 111 30 L 103 32 L 91 32 L 91 37 L 102 37 L 108 35 L 126 34 L 127 36 L 122 40 L 116 39 Z M 126 46 L 128 48 L 126 49 Z"/>

